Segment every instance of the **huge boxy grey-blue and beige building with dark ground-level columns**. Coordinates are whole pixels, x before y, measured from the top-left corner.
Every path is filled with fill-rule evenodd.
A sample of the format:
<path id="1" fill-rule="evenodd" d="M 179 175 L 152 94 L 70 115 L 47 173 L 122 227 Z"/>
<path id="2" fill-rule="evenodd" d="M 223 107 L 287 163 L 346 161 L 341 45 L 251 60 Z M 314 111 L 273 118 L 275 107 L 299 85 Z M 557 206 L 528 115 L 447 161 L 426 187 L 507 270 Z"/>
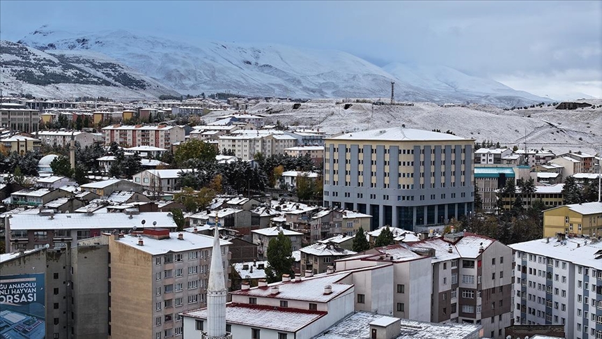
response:
<path id="1" fill-rule="evenodd" d="M 442 225 L 473 209 L 473 146 L 399 127 L 327 138 L 324 204 L 371 215 L 371 229 Z"/>

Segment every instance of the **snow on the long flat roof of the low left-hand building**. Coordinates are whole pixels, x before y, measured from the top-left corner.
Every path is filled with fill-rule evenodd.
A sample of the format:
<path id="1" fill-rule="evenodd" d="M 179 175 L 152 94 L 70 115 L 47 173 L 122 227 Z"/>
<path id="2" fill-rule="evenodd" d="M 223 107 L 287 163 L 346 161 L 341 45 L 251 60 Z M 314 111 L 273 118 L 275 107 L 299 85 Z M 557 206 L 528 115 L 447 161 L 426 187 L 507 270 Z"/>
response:
<path id="1" fill-rule="evenodd" d="M 10 218 L 10 229 L 121 229 L 132 227 L 157 227 L 176 228 L 173 218 L 167 212 L 141 212 L 132 214 L 132 218 L 125 213 L 59 213 L 54 216 L 41 216 L 40 214 L 13 214 Z M 145 220 L 144 226 L 141 223 Z"/>

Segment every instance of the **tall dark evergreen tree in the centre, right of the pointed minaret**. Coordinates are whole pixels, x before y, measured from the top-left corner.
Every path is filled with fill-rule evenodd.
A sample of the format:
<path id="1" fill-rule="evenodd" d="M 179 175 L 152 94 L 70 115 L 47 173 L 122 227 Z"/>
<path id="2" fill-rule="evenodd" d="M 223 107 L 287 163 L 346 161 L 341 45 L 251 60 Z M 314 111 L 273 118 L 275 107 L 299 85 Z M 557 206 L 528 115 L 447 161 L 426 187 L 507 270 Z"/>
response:
<path id="1" fill-rule="evenodd" d="M 268 266 L 265 268 L 265 277 L 268 279 L 268 283 L 280 281 L 283 274 L 291 276 L 295 274 L 293 270 L 295 258 L 293 258 L 292 248 L 291 239 L 288 239 L 288 236 L 285 236 L 282 231 L 278 233 L 277 237 L 270 240 L 266 251 Z"/>

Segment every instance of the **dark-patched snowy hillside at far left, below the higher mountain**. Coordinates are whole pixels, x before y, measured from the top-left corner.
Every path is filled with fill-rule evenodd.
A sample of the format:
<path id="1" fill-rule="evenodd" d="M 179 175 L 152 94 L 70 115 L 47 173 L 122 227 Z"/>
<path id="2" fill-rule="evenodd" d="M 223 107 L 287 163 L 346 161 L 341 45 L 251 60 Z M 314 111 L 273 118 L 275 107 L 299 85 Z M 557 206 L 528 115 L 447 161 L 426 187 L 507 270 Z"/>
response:
<path id="1" fill-rule="evenodd" d="M 0 41 L 0 88 L 36 97 L 105 96 L 121 100 L 177 94 L 102 54 L 53 51 L 54 55 Z"/>

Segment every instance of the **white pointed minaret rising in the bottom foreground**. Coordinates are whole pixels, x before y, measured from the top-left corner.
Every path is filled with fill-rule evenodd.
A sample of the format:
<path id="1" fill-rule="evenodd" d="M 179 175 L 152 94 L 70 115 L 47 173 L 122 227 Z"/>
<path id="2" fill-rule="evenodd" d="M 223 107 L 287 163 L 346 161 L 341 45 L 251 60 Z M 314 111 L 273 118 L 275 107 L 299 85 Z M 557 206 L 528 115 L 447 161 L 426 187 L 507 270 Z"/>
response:
<path id="1" fill-rule="evenodd" d="M 209 285 L 207 287 L 207 332 L 203 339 L 230 339 L 226 333 L 226 283 L 222 264 L 222 249 L 219 247 L 219 227 L 215 217 L 215 234 L 213 235 L 213 253 L 209 269 Z"/>

